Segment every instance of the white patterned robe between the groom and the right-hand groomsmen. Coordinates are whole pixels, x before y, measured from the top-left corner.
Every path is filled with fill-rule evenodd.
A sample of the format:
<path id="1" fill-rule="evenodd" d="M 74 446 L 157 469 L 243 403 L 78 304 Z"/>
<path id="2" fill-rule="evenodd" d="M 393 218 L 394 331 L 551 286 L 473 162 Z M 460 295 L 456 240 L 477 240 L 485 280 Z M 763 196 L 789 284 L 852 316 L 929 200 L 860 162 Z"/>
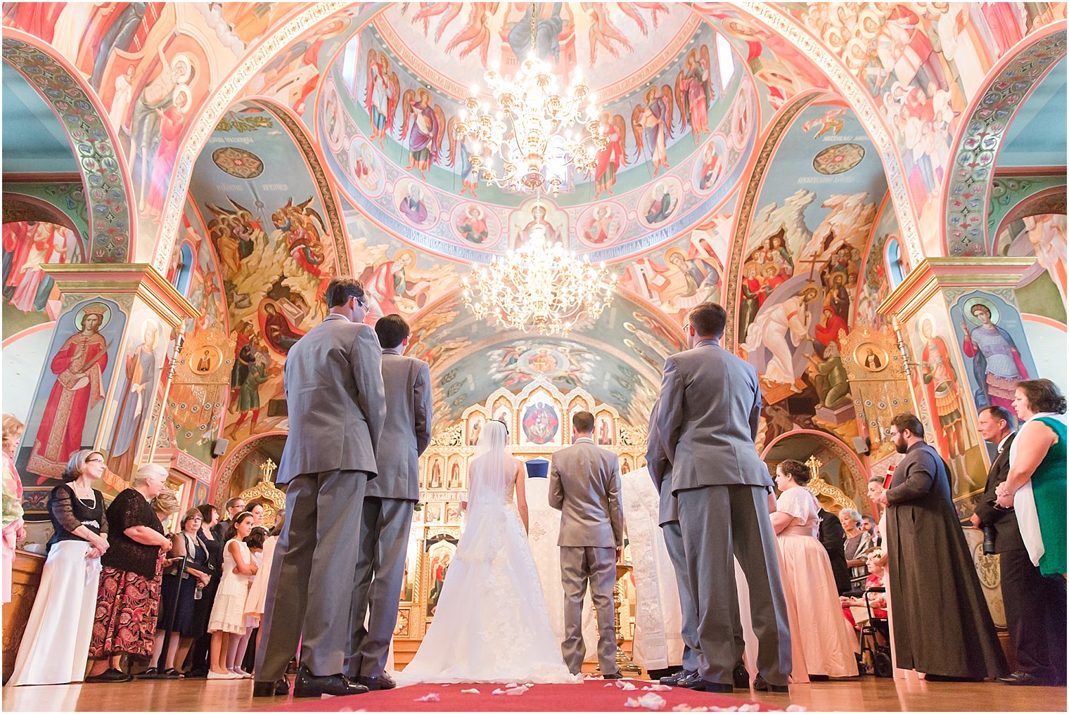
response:
<path id="1" fill-rule="evenodd" d="M 632 659 L 646 669 L 683 662 L 683 614 L 676 574 L 657 526 L 661 497 L 645 466 L 620 477 L 623 527 L 631 543 L 635 578 L 635 638 Z"/>

